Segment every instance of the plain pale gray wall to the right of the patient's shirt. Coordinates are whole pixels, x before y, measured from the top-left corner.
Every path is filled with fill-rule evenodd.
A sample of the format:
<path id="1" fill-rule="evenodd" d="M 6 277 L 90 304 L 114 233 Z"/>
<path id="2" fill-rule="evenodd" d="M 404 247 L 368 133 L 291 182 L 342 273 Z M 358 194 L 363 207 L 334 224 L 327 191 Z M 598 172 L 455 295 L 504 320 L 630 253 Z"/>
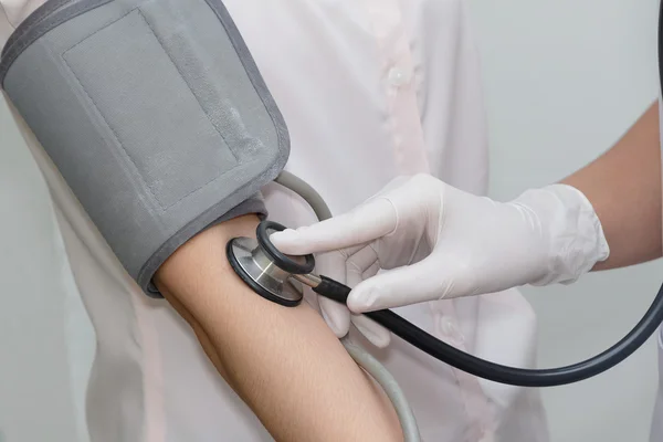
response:
<path id="1" fill-rule="evenodd" d="M 470 3 L 491 127 L 491 193 L 505 200 L 594 159 L 659 92 L 653 0 Z M 570 286 L 524 288 L 539 317 L 541 367 L 593 356 L 653 299 L 663 263 L 591 274 Z M 551 442 L 644 442 L 656 340 L 596 379 L 545 389 Z"/>

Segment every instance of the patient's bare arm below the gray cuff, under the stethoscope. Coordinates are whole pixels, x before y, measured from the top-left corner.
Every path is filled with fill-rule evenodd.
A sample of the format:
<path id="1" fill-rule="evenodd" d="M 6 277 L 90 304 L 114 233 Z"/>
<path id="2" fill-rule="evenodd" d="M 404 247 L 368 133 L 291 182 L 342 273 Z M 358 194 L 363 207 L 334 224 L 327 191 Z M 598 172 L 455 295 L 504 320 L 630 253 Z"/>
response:
<path id="1" fill-rule="evenodd" d="M 246 215 L 198 234 L 161 266 L 157 286 L 276 440 L 402 440 L 389 402 L 314 309 L 271 303 L 234 274 L 225 243 L 256 225 Z"/>

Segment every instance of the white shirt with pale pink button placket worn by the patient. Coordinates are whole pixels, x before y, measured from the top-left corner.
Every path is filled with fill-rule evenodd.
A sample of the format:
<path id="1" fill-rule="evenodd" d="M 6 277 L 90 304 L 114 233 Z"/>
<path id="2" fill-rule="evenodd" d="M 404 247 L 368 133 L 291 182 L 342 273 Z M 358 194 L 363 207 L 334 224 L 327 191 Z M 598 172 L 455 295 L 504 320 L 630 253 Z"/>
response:
<path id="1" fill-rule="evenodd" d="M 43 0 L 0 0 L 7 15 L 0 36 L 7 39 L 40 3 Z M 465 2 L 224 3 L 288 126 L 292 151 L 286 169 L 314 186 L 334 213 L 351 209 L 399 175 L 429 172 L 466 191 L 486 192 L 487 134 Z M 40 187 L 41 177 L 34 173 L 30 182 L 35 189 L 23 194 L 31 206 L 21 204 L 10 214 L 48 214 L 39 224 L 23 223 L 14 232 L 40 236 L 41 246 L 51 251 L 40 260 L 29 261 L 30 253 L 18 256 L 51 277 L 50 291 L 30 296 L 39 303 L 40 296 L 74 293 L 83 299 L 96 334 L 86 379 L 86 430 L 80 433 L 88 432 L 93 442 L 271 440 L 217 375 L 183 320 L 128 281 L 39 143 L 20 118 L 17 122 L 49 189 Z M 0 155 L 6 150 L 10 149 L 3 147 Z M 299 198 L 277 185 L 265 186 L 263 192 L 273 220 L 293 228 L 315 220 Z M 38 243 L 27 243 L 36 253 Z M 53 266 L 59 271 L 52 272 Z M 66 305 L 54 305 L 67 324 Z M 399 313 L 480 357 L 534 365 L 535 315 L 516 290 L 431 302 Z M 50 339 L 62 344 L 67 335 L 59 330 Z M 480 381 L 398 338 L 388 349 L 372 352 L 404 389 L 424 441 L 548 440 L 536 390 Z M 44 355 L 44 364 L 55 356 Z M 70 373 L 78 372 L 67 354 L 59 358 Z M 70 401 L 66 393 L 62 407 Z M 74 409 L 72 415 L 80 418 L 81 412 Z"/>

